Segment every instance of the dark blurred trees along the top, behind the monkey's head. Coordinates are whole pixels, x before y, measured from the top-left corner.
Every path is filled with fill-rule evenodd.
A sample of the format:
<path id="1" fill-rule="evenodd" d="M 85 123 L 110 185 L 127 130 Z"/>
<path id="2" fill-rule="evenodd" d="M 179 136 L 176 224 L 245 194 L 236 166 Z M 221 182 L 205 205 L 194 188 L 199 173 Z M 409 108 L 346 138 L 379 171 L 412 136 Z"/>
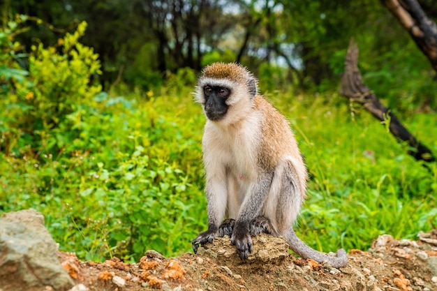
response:
<path id="1" fill-rule="evenodd" d="M 1 10 L 3 27 L 15 13 L 42 20 L 16 36 L 25 50 L 36 40 L 54 45 L 86 21 L 82 41 L 100 56 L 105 88 L 118 78 L 151 89 L 180 68 L 198 71 L 213 61 L 237 61 L 261 79 L 269 77 L 267 90 L 336 89 L 353 37 L 371 87 L 394 98 L 399 92 L 390 89 L 402 83 L 410 98 L 433 103 L 432 68 L 385 2 L 6 0 Z M 436 19 L 434 1 L 420 5 Z"/>

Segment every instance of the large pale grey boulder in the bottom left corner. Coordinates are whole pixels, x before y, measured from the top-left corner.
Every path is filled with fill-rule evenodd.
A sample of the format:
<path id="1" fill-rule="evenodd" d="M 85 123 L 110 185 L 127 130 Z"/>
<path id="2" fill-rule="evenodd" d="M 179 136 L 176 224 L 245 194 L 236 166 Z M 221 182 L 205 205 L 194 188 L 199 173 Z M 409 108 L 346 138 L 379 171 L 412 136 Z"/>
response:
<path id="1" fill-rule="evenodd" d="M 0 286 L 17 290 L 69 290 L 75 285 L 57 258 L 58 246 L 34 209 L 0 217 Z"/>

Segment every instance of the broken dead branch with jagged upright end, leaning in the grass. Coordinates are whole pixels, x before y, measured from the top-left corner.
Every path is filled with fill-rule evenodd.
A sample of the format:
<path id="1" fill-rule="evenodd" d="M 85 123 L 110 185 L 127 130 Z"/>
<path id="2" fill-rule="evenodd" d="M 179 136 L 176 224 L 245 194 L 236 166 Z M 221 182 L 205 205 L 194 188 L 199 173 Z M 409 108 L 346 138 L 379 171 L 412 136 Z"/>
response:
<path id="1" fill-rule="evenodd" d="M 397 119 L 393 112 L 382 105 L 376 95 L 362 82 L 361 73 L 358 70 L 358 47 L 353 40 L 350 40 L 348 54 L 346 55 L 345 72 L 341 77 L 340 94 L 362 104 L 366 110 L 371 112 L 380 121 L 390 122 L 390 133 L 410 146 L 408 154 L 417 161 L 436 161 L 431 150 L 419 142 L 401 124 L 401 121 Z"/>

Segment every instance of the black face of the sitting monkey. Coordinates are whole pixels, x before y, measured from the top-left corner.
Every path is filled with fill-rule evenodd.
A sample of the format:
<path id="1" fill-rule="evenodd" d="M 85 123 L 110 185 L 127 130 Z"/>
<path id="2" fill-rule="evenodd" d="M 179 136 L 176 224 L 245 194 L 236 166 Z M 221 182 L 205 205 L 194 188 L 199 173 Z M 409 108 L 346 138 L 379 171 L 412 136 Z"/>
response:
<path id="1" fill-rule="evenodd" d="M 223 119 L 228 112 L 228 105 L 225 103 L 230 96 L 230 89 L 220 86 L 203 87 L 205 96 L 205 112 L 209 120 L 216 121 Z"/>

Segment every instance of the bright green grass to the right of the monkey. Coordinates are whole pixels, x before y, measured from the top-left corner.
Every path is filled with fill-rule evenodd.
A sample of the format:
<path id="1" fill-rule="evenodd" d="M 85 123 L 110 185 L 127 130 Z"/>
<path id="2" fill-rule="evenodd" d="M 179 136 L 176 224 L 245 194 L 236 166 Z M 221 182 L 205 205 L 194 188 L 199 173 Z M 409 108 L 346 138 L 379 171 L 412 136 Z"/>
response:
<path id="1" fill-rule="evenodd" d="M 436 227 L 437 165 L 427 171 L 368 112 L 351 114 L 345 103 L 334 106 L 339 96 L 329 98 L 325 105 L 318 98 L 284 109 L 293 110 L 288 115 L 310 170 L 298 227 L 304 241 L 323 251 L 365 250 L 379 234 L 413 239 Z M 433 126 L 423 119 L 435 118 L 418 114 L 406 121 L 434 152 Z"/>

